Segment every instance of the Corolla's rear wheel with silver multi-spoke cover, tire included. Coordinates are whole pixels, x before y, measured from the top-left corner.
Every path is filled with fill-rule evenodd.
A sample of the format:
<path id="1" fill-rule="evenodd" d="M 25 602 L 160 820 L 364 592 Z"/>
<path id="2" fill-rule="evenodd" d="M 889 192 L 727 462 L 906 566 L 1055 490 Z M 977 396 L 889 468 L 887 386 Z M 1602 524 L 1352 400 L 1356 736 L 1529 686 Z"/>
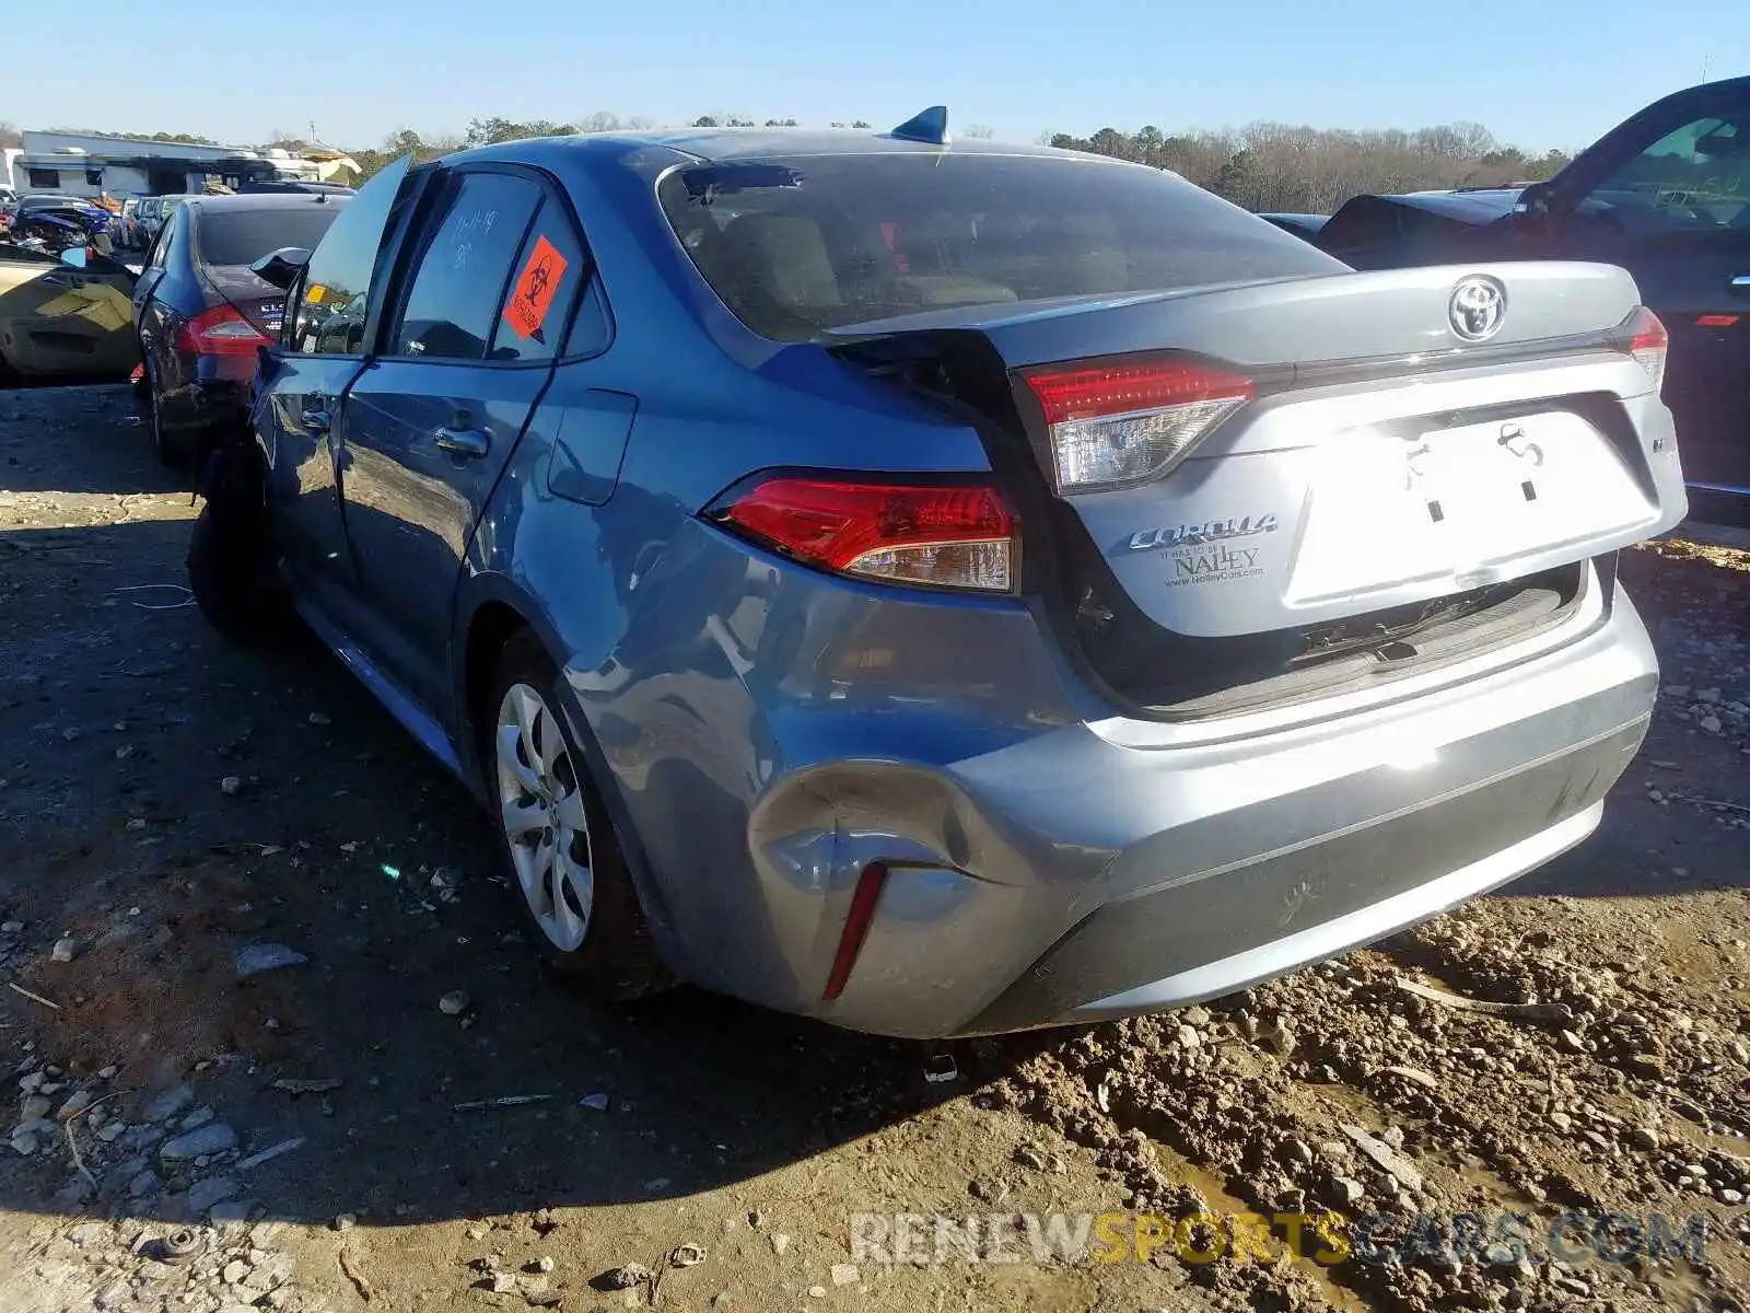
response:
<path id="1" fill-rule="evenodd" d="M 668 987 L 674 977 L 651 940 L 614 825 L 562 706 L 551 658 L 532 634 L 514 634 L 480 707 L 494 826 L 523 923 L 548 968 L 592 1001 L 623 1003 Z M 516 811 L 528 823 L 513 833 Z"/>

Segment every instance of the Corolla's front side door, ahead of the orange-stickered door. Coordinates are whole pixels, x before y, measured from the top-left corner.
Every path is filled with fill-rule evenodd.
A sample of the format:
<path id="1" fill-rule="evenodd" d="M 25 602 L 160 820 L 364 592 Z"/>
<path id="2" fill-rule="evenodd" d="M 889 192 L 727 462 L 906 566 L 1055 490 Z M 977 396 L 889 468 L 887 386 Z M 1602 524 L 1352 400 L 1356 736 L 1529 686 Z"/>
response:
<path id="1" fill-rule="evenodd" d="M 310 254 L 252 408 L 285 569 L 301 602 L 343 627 L 355 576 L 336 415 L 371 345 L 371 292 L 385 282 L 382 254 L 406 208 L 408 163 L 396 161 L 360 187 Z"/>

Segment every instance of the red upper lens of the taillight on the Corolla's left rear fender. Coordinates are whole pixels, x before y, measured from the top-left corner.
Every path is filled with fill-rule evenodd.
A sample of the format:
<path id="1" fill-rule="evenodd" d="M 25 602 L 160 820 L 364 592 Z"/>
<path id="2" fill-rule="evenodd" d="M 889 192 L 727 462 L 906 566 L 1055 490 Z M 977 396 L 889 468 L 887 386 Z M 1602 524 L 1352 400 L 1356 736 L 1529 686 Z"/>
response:
<path id="1" fill-rule="evenodd" d="M 984 487 L 774 478 L 737 499 L 726 518 L 798 560 L 835 571 L 886 548 L 1015 534 L 1015 516 Z"/>

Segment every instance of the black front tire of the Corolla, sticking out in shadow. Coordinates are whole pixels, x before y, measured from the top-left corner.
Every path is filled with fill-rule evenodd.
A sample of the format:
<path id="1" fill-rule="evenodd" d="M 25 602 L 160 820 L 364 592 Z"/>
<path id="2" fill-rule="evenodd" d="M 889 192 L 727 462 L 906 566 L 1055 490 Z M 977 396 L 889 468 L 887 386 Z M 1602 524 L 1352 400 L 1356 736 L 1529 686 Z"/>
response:
<path id="1" fill-rule="evenodd" d="M 205 471 L 206 504 L 189 536 L 189 590 L 206 623 L 234 642 L 284 646 L 296 630 L 268 544 L 261 467 L 243 438 L 229 438 Z"/>

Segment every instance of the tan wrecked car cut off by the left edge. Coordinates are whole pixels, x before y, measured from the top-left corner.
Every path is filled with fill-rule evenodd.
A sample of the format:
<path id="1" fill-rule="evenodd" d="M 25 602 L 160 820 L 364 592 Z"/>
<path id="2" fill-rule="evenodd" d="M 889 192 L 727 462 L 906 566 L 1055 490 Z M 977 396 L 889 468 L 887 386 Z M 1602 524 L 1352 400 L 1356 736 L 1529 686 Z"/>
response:
<path id="1" fill-rule="evenodd" d="M 138 361 L 133 275 L 114 259 L 88 259 L 82 247 L 68 259 L 0 250 L 0 375 L 119 378 Z"/>

